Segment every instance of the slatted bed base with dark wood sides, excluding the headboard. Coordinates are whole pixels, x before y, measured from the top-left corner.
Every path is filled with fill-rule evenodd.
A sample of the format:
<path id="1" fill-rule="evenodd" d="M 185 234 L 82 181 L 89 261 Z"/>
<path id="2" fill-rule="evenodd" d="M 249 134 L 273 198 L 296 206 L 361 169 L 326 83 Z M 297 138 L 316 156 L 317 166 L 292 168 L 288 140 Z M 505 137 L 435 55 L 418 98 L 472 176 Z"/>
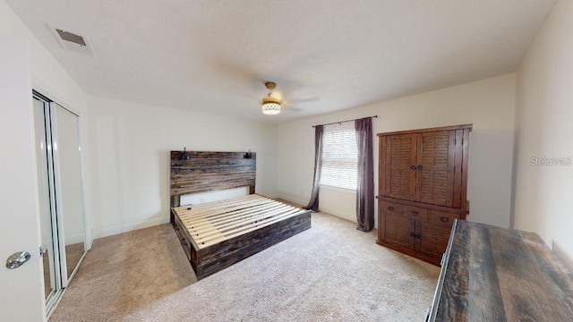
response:
<path id="1" fill-rule="evenodd" d="M 175 233 L 198 279 L 311 228 L 311 211 L 259 195 L 172 212 Z"/>

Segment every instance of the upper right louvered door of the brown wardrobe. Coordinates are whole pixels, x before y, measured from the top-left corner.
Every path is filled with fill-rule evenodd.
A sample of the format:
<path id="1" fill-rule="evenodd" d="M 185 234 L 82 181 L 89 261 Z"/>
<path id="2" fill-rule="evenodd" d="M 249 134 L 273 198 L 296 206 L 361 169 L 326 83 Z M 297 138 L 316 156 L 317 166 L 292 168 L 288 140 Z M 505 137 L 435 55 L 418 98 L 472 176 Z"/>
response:
<path id="1" fill-rule="evenodd" d="M 455 131 L 417 134 L 415 201 L 453 207 Z"/>

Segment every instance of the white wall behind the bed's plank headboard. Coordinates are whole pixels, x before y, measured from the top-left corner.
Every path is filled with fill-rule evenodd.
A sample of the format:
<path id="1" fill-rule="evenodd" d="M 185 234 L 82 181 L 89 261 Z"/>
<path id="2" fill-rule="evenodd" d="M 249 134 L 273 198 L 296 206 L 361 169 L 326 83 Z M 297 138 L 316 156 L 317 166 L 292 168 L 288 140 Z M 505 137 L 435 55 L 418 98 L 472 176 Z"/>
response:
<path id="1" fill-rule="evenodd" d="M 96 237 L 169 221 L 169 151 L 257 153 L 256 192 L 277 187 L 276 125 L 90 97 Z"/>

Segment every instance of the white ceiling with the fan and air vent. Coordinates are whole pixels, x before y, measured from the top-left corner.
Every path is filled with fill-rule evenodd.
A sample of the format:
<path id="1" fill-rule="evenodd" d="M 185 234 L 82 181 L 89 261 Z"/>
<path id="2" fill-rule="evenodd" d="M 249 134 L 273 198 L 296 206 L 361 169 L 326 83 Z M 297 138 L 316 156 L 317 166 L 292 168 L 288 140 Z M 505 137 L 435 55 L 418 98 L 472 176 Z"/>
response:
<path id="1" fill-rule="evenodd" d="M 89 95 L 284 123 L 515 72 L 554 0 L 7 0 Z M 60 47 L 47 24 L 87 37 Z M 284 113 L 261 114 L 276 81 Z"/>

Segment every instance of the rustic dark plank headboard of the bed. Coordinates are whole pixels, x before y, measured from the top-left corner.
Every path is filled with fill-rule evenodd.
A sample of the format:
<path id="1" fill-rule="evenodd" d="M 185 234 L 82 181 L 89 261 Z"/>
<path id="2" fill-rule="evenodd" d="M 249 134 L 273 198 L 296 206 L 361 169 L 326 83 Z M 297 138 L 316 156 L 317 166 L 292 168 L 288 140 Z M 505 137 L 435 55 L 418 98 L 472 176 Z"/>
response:
<path id="1" fill-rule="evenodd" d="M 186 152 L 189 160 L 181 159 L 184 151 L 171 151 L 171 208 L 179 207 L 180 197 L 190 193 L 239 187 L 254 193 L 256 153 Z"/>

